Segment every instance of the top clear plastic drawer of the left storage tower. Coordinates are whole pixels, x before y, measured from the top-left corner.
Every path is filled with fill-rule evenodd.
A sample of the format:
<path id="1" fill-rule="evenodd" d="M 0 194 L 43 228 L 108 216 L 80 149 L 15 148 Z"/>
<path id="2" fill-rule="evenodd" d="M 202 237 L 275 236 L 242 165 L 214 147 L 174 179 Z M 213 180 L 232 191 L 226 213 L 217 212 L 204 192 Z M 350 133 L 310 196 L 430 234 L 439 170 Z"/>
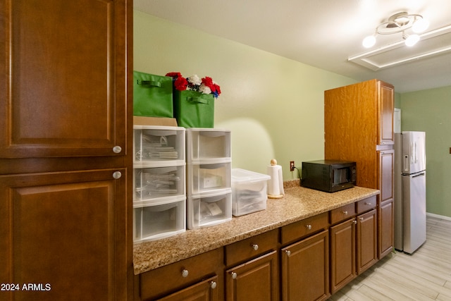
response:
<path id="1" fill-rule="evenodd" d="M 159 161 L 185 161 L 185 128 L 134 125 L 134 166 Z"/>

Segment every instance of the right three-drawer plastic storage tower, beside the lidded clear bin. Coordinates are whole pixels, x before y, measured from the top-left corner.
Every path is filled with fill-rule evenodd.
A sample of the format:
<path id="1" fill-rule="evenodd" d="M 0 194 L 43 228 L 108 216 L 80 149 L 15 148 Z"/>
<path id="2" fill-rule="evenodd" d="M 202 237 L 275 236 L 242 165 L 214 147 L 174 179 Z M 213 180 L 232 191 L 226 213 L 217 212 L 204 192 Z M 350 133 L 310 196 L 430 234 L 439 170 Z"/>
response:
<path id="1" fill-rule="evenodd" d="M 187 227 L 232 219 L 230 130 L 187 128 Z"/>

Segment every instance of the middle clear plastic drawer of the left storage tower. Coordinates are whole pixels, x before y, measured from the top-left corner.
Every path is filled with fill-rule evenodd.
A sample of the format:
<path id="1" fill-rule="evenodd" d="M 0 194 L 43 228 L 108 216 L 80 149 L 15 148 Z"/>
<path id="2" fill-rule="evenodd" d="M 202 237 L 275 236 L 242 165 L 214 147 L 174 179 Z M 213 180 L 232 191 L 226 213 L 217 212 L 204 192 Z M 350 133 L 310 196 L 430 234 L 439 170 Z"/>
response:
<path id="1" fill-rule="evenodd" d="M 135 168 L 134 201 L 185 195 L 185 165 Z"/>

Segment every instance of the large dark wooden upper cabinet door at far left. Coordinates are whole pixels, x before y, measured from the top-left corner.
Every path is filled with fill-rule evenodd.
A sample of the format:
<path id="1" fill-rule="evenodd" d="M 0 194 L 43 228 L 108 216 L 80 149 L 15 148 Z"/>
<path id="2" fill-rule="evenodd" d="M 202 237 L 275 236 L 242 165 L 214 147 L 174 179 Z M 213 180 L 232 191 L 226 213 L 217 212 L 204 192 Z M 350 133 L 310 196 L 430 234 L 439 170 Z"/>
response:
<path id="1" fill-rule="evenodd" d="M 0 157 L 125 154 L 126 1 L 0 0 L 0 12 Z"/>

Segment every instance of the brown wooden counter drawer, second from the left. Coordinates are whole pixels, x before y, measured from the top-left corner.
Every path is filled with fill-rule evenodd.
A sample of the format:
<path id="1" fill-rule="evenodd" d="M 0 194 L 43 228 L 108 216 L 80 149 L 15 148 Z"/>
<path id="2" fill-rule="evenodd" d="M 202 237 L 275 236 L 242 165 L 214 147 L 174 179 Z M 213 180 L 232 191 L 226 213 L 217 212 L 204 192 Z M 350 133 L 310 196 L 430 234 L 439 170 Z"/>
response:
<path id="1" fill-rule="evenodd" d="M 278 229 L 226 245 L 226 266 L 242 262 L 278 246 Z"/>

